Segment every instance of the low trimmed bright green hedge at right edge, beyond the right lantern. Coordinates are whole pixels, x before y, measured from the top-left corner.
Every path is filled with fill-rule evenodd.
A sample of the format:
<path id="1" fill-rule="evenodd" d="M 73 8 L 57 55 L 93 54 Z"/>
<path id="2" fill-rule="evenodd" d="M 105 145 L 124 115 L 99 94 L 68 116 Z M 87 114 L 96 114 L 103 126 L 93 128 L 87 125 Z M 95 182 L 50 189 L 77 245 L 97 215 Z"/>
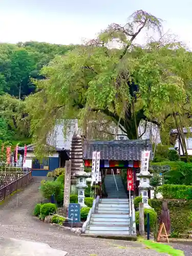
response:
<path id="1" fill-rule="evenodd" d="M 164 184 L 158 187 L 164 199 L 192 199 L 192 186 Z"/>

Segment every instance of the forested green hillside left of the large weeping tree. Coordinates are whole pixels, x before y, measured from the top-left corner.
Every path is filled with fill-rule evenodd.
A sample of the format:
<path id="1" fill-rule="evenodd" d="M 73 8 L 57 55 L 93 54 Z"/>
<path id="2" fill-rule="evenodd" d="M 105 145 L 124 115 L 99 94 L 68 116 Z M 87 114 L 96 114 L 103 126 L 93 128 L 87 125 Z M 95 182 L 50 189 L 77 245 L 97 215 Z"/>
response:
<path id="1" fill-rule="evenodd" d="M 25 97 L 35 92 L 33 79 L 56 55 L 65 55 L 74 45 L 45 42 L 0 44 L 0 140 L 29 143 L 30 129 Z"/>

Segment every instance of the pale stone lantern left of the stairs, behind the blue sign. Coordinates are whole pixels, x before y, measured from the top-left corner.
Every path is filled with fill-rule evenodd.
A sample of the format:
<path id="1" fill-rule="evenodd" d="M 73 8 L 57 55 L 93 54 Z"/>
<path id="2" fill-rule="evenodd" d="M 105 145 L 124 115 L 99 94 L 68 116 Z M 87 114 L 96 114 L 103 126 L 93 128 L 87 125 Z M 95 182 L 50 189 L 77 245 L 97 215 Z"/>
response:
<path id="1" fill-rule="evenodd" d="M 75 173 L 73 176 L 77 178 L 76 189 L 78 190 L 78 203 L 81 207 L 87 207 L 87 205 L 84 204 L 84 190 L 88 187 L 87 178 L 91 177 L 91 173 L 84 172 L 84 168 L 81 166 L 79 172 Z"/>

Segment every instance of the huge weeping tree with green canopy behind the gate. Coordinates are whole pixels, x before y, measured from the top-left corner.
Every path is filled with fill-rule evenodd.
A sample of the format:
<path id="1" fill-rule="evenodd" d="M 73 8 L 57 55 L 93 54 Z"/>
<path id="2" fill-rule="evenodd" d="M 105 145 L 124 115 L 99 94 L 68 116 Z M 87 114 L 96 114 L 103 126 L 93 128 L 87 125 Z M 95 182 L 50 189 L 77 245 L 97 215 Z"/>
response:
<path id="1" fill-rule="evenodd" d="M 146 37 L 151 30 L 159 39 L 138 45 L 138 35 Z M 114 123 L 136 139 L 141 120 L 163 129 L 170 118 L 188 117 L 192 56 L 161 31 L 160 19 L 139 10 L 125 26 L 111 24 L 96 39 L 42 68 L 46 79 L 34 81 L 37 92 L 27 99 L 34 141 L 44 144 L 64 119 L 77 118 L 84 133 L 94 123 L 100 134 L 110 134 Z"/>

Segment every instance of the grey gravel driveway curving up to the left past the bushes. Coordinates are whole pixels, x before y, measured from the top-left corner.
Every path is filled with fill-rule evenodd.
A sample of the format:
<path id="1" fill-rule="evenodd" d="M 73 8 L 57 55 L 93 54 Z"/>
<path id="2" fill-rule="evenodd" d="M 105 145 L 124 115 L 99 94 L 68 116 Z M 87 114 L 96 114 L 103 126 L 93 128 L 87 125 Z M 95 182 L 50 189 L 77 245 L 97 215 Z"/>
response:
<path id="1" fill-rule="evenodd" d="M 69 256 L 167 255 L 147 249 L 137 242 L 80 237 L 71 231 L 60 230 L 37 220 L 31 213 L 41 199 L 38 193 L 39 182 L 40 179 L 35 179 L 20 191 L 18 207 L 17 195 L 0 206 L 0 236 L 47 243 L 52 248 L 67 251 Z"/>

